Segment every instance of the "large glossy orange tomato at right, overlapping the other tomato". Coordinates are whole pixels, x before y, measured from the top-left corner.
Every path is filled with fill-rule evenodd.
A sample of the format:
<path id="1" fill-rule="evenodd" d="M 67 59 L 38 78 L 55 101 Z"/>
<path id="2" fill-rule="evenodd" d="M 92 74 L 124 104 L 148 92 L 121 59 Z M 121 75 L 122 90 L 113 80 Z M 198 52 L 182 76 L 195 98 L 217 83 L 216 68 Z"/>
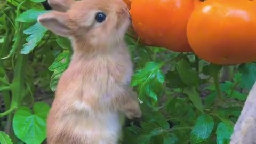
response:
<path id="1" fill-rule="evenodd" d="M 195 54 L 220 65 L 255 61 L 255 3 L 207 0 L 198 5 L 187 25 L 188 41 Z"/>

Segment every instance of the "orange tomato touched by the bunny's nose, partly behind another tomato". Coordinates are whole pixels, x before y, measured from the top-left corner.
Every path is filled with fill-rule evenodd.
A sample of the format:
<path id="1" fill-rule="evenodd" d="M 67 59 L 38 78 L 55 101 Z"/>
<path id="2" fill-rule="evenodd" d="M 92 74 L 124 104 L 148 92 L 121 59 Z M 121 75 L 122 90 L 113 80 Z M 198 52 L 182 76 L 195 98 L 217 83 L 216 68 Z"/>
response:
<path id="1" fill-rule="evenodd" d="M 130 10 L 133 28 L 148 45 L 190 52 L 186 27 L 194 1 L 134 0 Z"/>

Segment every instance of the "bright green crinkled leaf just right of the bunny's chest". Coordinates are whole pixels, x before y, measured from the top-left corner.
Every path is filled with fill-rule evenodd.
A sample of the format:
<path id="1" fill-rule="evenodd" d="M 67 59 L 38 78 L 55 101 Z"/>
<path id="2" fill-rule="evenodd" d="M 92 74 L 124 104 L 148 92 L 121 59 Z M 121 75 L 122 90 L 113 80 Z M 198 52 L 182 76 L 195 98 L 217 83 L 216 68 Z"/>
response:
<path id="1" fill-rule="evenodd" d="M 143 69 L 137 70 L 132 77 L 132 86 L 139 87 L 139 98 L 144 99 L 148 95 L 155 102 L 157 94 L 162 91 L 162 86 L 165 81 L 161 63 L 147 62 Z"/>

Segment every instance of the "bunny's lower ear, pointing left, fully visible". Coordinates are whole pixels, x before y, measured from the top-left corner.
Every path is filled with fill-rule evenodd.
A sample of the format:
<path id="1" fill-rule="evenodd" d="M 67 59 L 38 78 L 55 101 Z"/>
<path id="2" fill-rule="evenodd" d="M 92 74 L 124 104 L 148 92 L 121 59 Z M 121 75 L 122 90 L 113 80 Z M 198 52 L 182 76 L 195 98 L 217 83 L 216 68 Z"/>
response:
<path id="1" fill-rule="evenodd" d="M 71 34 L 68 26 L 70 19 L 67 13 L 52 11 L 39 15 L 37 21 L 57 35 L 68 37 Z"/>

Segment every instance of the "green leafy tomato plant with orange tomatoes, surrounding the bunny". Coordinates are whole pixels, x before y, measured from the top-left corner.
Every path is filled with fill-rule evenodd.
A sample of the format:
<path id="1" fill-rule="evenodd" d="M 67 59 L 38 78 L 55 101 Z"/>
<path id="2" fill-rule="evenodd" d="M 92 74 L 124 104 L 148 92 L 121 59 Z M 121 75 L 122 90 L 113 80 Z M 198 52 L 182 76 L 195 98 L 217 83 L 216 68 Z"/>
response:
<path id="1" fill-rule="evenodd" d="M 69 40 L 54 35 L 37 22 L 38 15 L 47 12 L 45 7 L 49 9 L 41 2 L 47 4 L 44 0 L 0 2 L 0 143 L 46 143 L 46 117 L 55 86 L 70 62 L 72 49 Z M 231 10 L 239 7 L 243 12 L 246 9 L 249 18 L 254 18 L 251 15 L 254 10 L 249 5 L 253 2 L 221 1 L 221 10 L 226 11 L 227 6 Z M 197 8 L 194 11 L 195 3 Z M 134 63 L 131 85 L 140 99 L 143 116 L 125 122 L 121 143 L 224 144 L 230 141 L 234 124 L 256 80 L 256 63 L 222 66 L 209 61 L 219 63 L 216 51 L 222 54 L 220 51 L 227 49 L 221 46 L 227 44 L 236 46 L 229 49 L 229 53 L 223 53 L 229 54 L 229 63 L 251 60 L 253 47 L 245 42 L 254 43 L 249 36 L 254 36 L 255 30 L 252 29 L 253 19 L 247 21 L 251 27 L 234 28 L 228 26 L 246 24 L 237 17 L 224 19 L 219 13 L 199 12 L 206 9 L 207 4 L 221 5 L 217 0 L 202 3 L 188 0 L 132 1 L 133 26 L 139 38 L 130 31 L 134 33 L 127 33 L 125 40 Z M 141 7 L 145 10 L 142 11 Z M 209 14 L 215 17 L 209 17 Z M 139 26 L 139 22 L 145 27 Z M 204 25 L 214 28 L 212 22 L 225 24 L 215 28 L 228 33 L 218 29 L 204 32 Z M 214 30 L 221 35 L 212 35 Z M 246 35 L 243 30 L 247 30 Z M 186 33 L 196 55 L 188 46 Z M 191 37 L 201 38 L 204 33 L 209 37 L 202 37 L 200 41 Z M 230 38 L 238 38 L 236 34 L 245 37 L 228 43 L 232 40 Z M 141 43 L 140 38 L 148 44 Z M 205 51 L 213 49 L 209 44 L 214 43 L 220 47 L 214 47 L 215 51 L 207 54 Z M 232 55 L 237 52 L 240 55 L 235 55 L 236 59 Z"/>

